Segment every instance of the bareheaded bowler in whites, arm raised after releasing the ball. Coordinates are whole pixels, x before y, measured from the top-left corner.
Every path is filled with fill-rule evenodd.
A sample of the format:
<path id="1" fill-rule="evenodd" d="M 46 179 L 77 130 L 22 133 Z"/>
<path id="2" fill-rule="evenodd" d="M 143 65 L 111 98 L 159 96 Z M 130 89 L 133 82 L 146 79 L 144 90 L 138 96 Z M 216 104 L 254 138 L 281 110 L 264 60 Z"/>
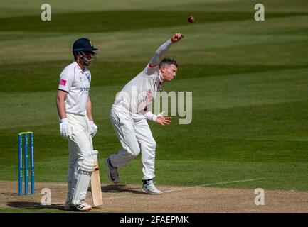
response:
<path id="1" fill-rule="evenodd" d="M 161 194 L 153 182 L 156 142 L 147 120 L 164 126 L 171 122 L 171 118 L 162 114 L 156 116 L 147 109 L 147 106 L 161 91 L 161 85 L 164 82 L 171 82 L 176 77 L 177 62 L 169 58 L 161 61 L 160 59 L 171 45 L 183 37 L 181 33 L 176 33 L 162 44 L 144 70 L 124 86 L 112 105 L 110 120 L 122 145 L 117 154 L 110 155 L 105 160 L 108 177 L 114 183 L 119 182 L 118 168 L 127 165 L 141 151 L 142 192 Z"/>

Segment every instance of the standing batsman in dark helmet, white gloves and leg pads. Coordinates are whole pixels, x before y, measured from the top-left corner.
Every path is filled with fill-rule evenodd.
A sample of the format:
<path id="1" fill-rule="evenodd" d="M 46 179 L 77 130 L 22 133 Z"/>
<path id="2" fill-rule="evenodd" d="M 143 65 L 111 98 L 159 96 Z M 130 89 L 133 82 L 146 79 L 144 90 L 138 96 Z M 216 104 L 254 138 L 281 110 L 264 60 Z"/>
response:
<path id="1" fill-rule="evenodd" d="M 93 150 L 92 137 L 97 126 L 92 117 L 89 96 L 91 73 L 87 69 L 95 58 L 91 41 L 80 38 L 73 43 L 74 61 L 61 72 L 56 104 L 60 116 L 60 135 L 68 139 L 68 196 L 65 209 L 88 211 L 85 202 L 90 177 L 97 165 L 98 151 Z"/>

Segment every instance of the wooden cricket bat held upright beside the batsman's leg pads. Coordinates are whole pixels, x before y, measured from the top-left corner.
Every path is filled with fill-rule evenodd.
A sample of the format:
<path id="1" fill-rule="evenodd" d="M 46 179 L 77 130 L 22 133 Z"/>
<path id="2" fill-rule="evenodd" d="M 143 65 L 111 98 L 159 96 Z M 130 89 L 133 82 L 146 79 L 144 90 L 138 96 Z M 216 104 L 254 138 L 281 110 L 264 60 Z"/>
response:
<path id="1" fill-rule="evenodd" d="M 98 164 L 91 175 L 91 193 L 94 206 L 102 206 L 102 190 L 100 188 L 100 168 Z"/>

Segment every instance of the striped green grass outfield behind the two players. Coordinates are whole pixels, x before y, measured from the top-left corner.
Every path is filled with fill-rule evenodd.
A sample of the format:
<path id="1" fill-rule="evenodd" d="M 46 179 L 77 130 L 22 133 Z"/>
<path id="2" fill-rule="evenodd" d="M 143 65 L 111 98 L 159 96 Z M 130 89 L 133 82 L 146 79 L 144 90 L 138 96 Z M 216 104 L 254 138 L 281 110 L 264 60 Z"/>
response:
<path id="1" fill-rule="evenodd" d="M 40 20 L 41 1 L 21 2 L 0 3 L 0 180 L 17 180 L 18 132 L 34 131 L 36 181 L 65 182 L 68 145 L 55 94 L 73 41 L 85 36 L 100 49 L 90 96 L 106 184 L 105 157 L 120 149 L 109 121 L 115 94 L 181 32 L 185 38 L 166 53 L 178 60 L 178 75 L 164 90 L 193 92 L 193 121 L 149 123 L 155 182 L 261 179 L 216 187 L 308 189 L 307 1 L 268 0 L 264 22 L 254 21 L 258 1 L 248 0 L 52 1 L 51 22 Z M 141 168 L 137 157 L 120 170 L 121 182 L 141 184 Z"/>

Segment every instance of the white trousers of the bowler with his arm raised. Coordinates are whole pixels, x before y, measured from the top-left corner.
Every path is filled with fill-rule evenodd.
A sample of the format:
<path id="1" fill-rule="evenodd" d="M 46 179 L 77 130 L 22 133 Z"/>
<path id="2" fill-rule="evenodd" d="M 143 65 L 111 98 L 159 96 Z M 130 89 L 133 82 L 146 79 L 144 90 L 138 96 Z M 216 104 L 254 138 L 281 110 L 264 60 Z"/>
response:
<path id="1" fill-rule="evenodd" d="M 142 179 L 155 177 L 155 148 L 156 142 L 152 136 L 147 119 L 134 119 L 132 114 L 120 105 L 112 105 L 110 121 L 122 149 L 114 155 L 110 155 L 110 161 L 114 167 L 124 167 L 130 160 L 142 152 Z"/>

